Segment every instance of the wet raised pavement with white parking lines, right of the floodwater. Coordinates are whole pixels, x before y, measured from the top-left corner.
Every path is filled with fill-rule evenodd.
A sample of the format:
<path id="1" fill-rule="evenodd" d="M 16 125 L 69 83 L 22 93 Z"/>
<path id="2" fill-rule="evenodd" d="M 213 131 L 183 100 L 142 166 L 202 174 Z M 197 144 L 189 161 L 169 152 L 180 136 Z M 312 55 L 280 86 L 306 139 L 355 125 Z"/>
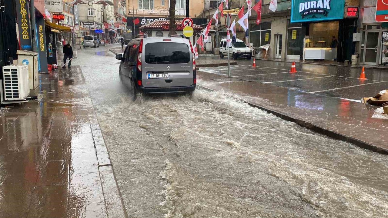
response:
<path id="1" fill-rule="evenodd" d="M 254 107 L 329 137 L 388 154 L 388 116 L 380 107 L 360 102 L 388 88 L 384 71 L 368 71 L 371 80 L 359 81 L 358 70 L 351 68 L 300 64 L 298 73 L 290 74 L 282 62 L 259 61 L 258 67 L 239 63 L 245 65 L 234 66 L 232 78 L 225 67 L 200 68 L 198 84 L 235 93 Z"/>

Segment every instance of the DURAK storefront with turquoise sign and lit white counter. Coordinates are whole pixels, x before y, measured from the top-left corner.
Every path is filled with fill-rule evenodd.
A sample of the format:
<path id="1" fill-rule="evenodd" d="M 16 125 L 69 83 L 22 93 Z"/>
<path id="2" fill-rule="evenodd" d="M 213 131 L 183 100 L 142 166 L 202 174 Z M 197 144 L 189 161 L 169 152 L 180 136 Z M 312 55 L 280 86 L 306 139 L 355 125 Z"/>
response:
<path id="1" fill-rule="evenodd" d="M 350 60 L 357 18 L 344 19 L 343 0 L 292 0 L 287 57 L 301 60 Z M 303 47 L 303 50 L 300 48 Z"/>

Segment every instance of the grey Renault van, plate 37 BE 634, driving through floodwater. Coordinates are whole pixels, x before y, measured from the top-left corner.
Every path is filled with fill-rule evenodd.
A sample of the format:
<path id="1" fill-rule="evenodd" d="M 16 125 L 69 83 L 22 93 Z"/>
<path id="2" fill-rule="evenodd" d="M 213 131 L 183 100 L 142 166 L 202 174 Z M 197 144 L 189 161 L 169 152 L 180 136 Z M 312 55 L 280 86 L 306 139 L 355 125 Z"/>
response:
<path id="1" fill-rule="evenodd" d="M 121 82 L 135 94 L 193 92 L 196 88 L 195 55 L 188 39 L 138 35 L 116 59 L 121 61 Z"/>

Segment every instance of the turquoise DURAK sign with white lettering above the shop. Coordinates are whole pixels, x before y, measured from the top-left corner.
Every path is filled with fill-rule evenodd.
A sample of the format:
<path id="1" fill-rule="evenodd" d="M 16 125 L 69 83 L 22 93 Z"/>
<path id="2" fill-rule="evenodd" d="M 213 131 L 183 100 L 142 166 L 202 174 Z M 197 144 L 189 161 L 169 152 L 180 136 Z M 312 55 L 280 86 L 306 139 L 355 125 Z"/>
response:
<path id="1" fill-rule="evenodd" d="M 291 22 L 343 19 L 344 0 L 292 0 Z"/>

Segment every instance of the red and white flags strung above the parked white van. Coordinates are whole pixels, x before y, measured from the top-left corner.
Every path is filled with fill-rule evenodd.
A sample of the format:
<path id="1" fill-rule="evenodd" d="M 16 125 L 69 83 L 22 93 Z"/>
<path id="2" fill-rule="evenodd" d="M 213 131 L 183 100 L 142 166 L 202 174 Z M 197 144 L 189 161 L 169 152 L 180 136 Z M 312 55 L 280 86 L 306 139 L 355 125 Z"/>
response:
<path id="1" fill-rule="evenodd" d="M 229 8 L 229 0 L 222 0 L 222 2 L 220 3 L 220 6 L 217 8 L 217 11 L 213 15 L 212 19 L 210 19 L 208 25 L 206 25 L 206 28 L 203 30 L 203 32 L 201 33 L 201 36 L 198 38 L 197 42 L 194 44 L 193 47 L 196 48 L 197 44 L 198 44 L 201 46 L 201 50 L 204 50 L 203 44 L 208 42 L 208 40 L 209 40 L 209 31 L 210 31 L 210 27 L 211 27 L 211 22 L 214 19 L 216 22 L 216 26 L 218 26 L 218 12 L 220 12 L 221 17 L 223 17 L 223 3 L 224 2 L 225 2 L 225 7 Z M 247 31 L 249 28 L 248 17 L 251 16 L 252 10 L 255 11 L 257 14 L 256 22 L 255 22 L 257 25 L 260 24 L 261 17 L 262 17 L 262 0 L 258 1 L 253 7 L 251 7 L 252 0 L 246 0 L 246 3 L 248 4 L 248 10 L 247 10 L 246 14 L 244 14 L 244 5 L 242 5 L 241 9 L 239 10 L 239 13 L 237 14 L 237 17 L 239 18 L 237 23 L 240 24 L 240 27 L 242 27 L 244 29 L 244 31 Z M 275 10 L 277 9 L 277 0 L 271 0 L 270 5 L 269 5 L 269 9 L 272 10 L 273 12 L 275 12 Z M 232 22 L 232 24 L 230 26 L 230 29 L 228 29 L 228 31 L 227 31 L 227 43 L 231 43 L 229 30 L 232 32 L 233 36 L 236 36 L 236 19 L 234 19 L 234 21 Z M 228 36 L 229 36 L 229 41 L 228 41 Z M 196 52 L 195 55 L 196 55 L 196 59 L 197 59 L 198 58 L 197 49 L 194 49 L 194 51 Z"/>

